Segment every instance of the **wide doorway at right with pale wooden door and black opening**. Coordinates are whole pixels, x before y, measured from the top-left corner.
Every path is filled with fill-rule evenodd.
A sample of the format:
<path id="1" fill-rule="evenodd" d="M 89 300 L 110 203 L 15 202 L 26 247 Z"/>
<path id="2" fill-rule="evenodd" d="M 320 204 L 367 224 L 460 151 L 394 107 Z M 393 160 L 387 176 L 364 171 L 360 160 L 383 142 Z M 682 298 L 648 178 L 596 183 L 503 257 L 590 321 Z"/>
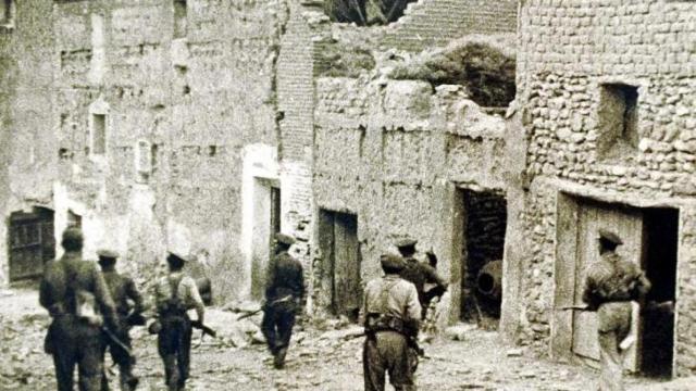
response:
<path id="1" fill-rule="evenodd" d="M 589 366 L 599 366 L 596 313 L 568 311 L 582 306 L 587 267 L 599 261 L 598 230 L 623 240 L 618 252 L 654 280 L 648 300 L 674 300 L 679 212 L 639 209 L 560 194 L 558 199 L 555 319 L 551 350 Z M 674 318 L 660 311 L 641 312 L 634 303 L 631 332 L 636 342 L 626 351 L 624 368 L 649 376 L 671 376 Z"/>

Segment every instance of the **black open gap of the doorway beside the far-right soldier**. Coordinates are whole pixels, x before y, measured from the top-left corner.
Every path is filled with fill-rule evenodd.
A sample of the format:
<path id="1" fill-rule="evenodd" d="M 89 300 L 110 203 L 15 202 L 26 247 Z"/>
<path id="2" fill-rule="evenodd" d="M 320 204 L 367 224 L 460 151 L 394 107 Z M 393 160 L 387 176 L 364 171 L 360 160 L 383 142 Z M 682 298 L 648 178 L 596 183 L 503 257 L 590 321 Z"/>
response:
<path id="1" fill-rule="evenodd" d="M 679 211 L 645 212 L 646 275 L 652 283 L 647 301 L 674 302 Z M 674 314 L 648 305 L 643 317 L 642 371 L 650 377 L 671 377 L 674 356 Z"/>

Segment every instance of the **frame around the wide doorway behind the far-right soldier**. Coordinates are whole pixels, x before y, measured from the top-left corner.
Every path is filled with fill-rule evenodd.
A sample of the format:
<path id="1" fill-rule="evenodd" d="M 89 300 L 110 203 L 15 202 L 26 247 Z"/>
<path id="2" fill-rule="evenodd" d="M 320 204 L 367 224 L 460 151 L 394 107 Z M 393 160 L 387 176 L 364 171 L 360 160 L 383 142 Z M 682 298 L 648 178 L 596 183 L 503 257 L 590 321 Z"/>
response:
<path id="1" fill-rule="evenodd" d="M 619 194 L 616 192 L 609 192 L 608 194 L 604 194 L 600 191 L 593 189 L 594 191 L 581 192 L 577 191 L 579 188 L 576 186 L 572 186 L 571 184 L 566 184 L 567 186 L 562 186 L 561 184 L 566 184 L 564 181 L 555 181 L 551 180 L 551 185 L 557 189 L 556 190 L 556 232 L 554 237 L 554 298 L 552 298 L 552 314 L 551 314 L 551 324 L 550 324 L 550 343 L 549 343 L 549 355 L 552 360 L 576 363 L 580 362 L 581 358 L 576 357 L 573 354 L 573 312 L 572 311 L 563 311 L 560 310 L 566 305 L 574 304 L 574 283 L 577 278 L 575 262 L 577 257 L 577 247 L 575 245 L 577 241 L 577 224 L 571 224 L 568 222 L 576 222 L 577 214 L 580 211 L 580 202 L 579 199 L 587 199 L 589 201 L 606 203 L 606 204 L 622 204 L 629 207 L 634 207 L 638 210 L 651 209 L 651 207 L 670 207 L 674 209 L 679 213 L 678 218 L 678 232 L 682 232 L 682 207 L 679 202 L 670 202 L 672 200 L 661 199 L 661 200 L 643 200 L 641 202 L 641 198 L 631 197 L 631 194 Z M 572 216 L 571 219 L 562 218 Z M 566 224 L 563 224 L 566 223 Z M 566 231 L 566 235 L 562 232 Z M 571 232 L 571 234 L 569 234 Z M 569 238 L 574 238 L 574 240 L 569 241 Z M 674 339 L 673 350 L 672 350 L 672 377 L 676 376 L 678 373 L 678 326 L 679 326 L 679 283 L 680 283 L 680 262 L 681 262 L 681 235 L 676 240 L 676 276 L 675 276 L 675 308 L 674 308 L 674 328 L 672 330 L 672 338 Z M 570 250 L 570 251 L 569 251 Z M 560 278 L 561 276 L 568 276 L 568 268 L 572 268 L 573 278 Z M 559 294 L 559 287 L 563 290 L 566 285 L 571 283 L 571 290 L 562 291 Z"/>

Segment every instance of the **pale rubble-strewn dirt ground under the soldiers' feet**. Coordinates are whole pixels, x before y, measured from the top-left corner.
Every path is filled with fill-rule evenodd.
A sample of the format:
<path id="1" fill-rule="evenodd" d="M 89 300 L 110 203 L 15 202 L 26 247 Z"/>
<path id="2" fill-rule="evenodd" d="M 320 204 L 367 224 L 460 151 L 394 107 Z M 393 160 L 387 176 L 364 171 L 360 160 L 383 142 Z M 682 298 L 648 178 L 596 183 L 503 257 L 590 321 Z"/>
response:
<path id="1" fill-rule="evenodd" d="M 47 324 L 36 292 L 0 291 L 0 390 L 55 389 L 51 358 L 42 352 Z M 465 330 L 463 341 L 439 337 L 424 345 L 427 358 L 418 370 L 420 390 L 592 390 L 595 384 L 597 374 L 592 369 L 535 358 L 505 344 L 495 332 Z M 349 333 L 300 325 L 284 370 L 272 368 L 262 344 L 231 348 L 207 339 L 192 350 L 188 390 L 362 390 L 362 339 L 346 339 Z M 156 338 L 142 329 L 132 335 L 136 374 L 141 377 L 138 389 L 164 390 Z M 114 373 L 111 379 L 115 378 Z M 629 390 L 696 389 L 691 379 L 626 382 Z"/>

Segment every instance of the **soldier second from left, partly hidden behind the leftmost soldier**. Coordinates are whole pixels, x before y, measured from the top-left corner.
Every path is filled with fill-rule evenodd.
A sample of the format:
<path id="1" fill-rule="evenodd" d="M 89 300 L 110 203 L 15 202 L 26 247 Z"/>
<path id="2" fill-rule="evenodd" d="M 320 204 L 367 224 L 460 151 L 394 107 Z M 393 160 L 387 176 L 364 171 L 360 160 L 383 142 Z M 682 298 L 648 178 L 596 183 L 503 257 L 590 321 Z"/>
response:
<path id="1" fill-rule="evenodd" d="M 109 339 L 109 350 L 113 362 L 119 365 L 121 390 L 135 390 L 138 386 L 138 377 L 133 375 L 133 365 L 135 357 L 130 353 L 130 336 L 129 327 L 134 323 L 133 319 L 141 318 L 142 315 L 142 297 L 135 286 L 135 281 L 128 276 L 123 276 L 116 272 L 115 265 L 119 254 L 111 250 L 99 250 L 99 265 L 104 276 L 111 298 L 116 305 L 116 314 L 121 325 L 122 332 L 114 335 L 119 339 L 119 343 Z M 125 351 L 120 343 L 123 343 L 128 351 Z M 102 391 L 109 390 L 109 382 L 103 378 Z"/>

